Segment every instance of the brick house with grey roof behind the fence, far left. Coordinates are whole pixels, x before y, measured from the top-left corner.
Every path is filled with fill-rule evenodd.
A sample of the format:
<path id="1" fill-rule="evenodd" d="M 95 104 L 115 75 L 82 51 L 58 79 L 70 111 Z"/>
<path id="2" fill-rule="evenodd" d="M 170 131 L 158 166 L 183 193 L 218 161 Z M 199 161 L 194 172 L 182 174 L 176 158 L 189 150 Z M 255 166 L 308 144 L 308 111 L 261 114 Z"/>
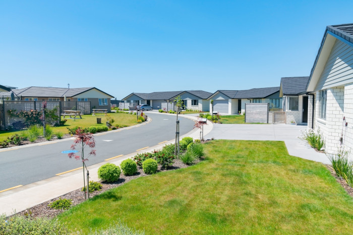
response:
<path id="1" fill-rule="evenodd" d="M 2 91 L 2 90 L 1 90 Z M 95 88 L 50 88 L 28 87 L 0 91 L 0 97 L 6 100 L 24 101 L 90 101 L 91 109 L 107 109 L 110 111 L 110 99 L 113 96 Z"/>

